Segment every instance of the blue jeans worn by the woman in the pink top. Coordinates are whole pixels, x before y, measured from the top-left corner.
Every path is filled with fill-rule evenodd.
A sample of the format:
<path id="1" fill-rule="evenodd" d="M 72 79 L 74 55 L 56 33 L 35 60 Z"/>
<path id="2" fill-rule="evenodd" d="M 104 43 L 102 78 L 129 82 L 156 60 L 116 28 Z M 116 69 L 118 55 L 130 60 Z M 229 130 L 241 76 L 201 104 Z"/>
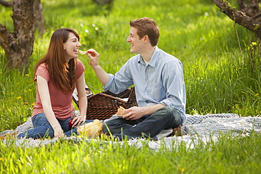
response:
<path id="1" fill-rule="evenodd" d="M 71 135 L 78 135 L 78 132 L 75 128 L 69 129 L 68 122 L 71 118 L 67 118 L 66 120 L 59 120 L 61 125 L 61 129 L 64 132 L 64 135 L 71 136 Z M 85 123 L 92 122 L 93 120 L 86 120 Z M 33 138 L 33 139 L 40 139 L 46 137 L 54 137 L 54 130 L 51 128 L 49 121 L 44 113 L 39 113 L 32 117 L 32 125 L 33 129 L 20 133 L 18 138 L 26 137 L 26 138 Z"/>

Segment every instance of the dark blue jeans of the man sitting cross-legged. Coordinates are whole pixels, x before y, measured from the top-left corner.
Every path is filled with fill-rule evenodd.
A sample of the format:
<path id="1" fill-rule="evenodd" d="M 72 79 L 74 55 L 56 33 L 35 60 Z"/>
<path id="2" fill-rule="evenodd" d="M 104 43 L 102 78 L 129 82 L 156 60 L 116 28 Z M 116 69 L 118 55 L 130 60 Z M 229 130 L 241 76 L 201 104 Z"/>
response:
<path id="1" fill-rule="evenodd" d="M 119 139 L 138 138 L 138 137 L 155 137 L 162 130 L 177 128 L 182 125 L 183 120 L 181 113 L 169 106 L 160 108 L 152 115 L 142 116 L 137 120 L 126 120 L 116 118 L 104 123 L 102 128 L 104 133 L 111 133 Z"/>

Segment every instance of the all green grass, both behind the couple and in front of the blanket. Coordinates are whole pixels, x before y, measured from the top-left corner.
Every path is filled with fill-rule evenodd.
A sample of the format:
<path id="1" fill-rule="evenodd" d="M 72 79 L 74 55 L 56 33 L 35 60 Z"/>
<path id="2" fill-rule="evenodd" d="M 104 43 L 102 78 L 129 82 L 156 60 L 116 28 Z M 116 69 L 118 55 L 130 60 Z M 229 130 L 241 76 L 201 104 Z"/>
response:
<path id="1" fill-rule="evenodd" d="M 237 6 L 237 1 L 230 1 Z M 235 25 L 212 1 L 115 0 L 111 9 L 91 0 L 42 1 L 47 32 L 35 34 L 28 74 L 6 68 L 0 48 L 0 132 L 15 129 L 32 113 L 35 102 L 33 66 L 44 55 L 49 38 L 60 27 L 71 27 L 80 35 L 81 49 L 94 48 L 99 63 L 115 73 L 130 56 L 126 42 L 129 20 L 144 16 L 160 28 L 159 48 L 173 54 L 184 66 L 186 113 L 237 113 L 260 115 L 260 56 L 253 34 Z M 0 6 L 0 23 L 13 30 L 11 8 Z M 250 49 L 252 51 L 250 51 Z M 85 81 L 93 93 L 102 84 L 88 64 Z M 181 144 L 159 151 L 146 144 L 141 149 L 118 144 L 60 142 L 25 148 L 0 142 L 0 173 L 260 173 L 260 135 L 231 138 L 217 144 L 199 144 L 186 149 Z"/>

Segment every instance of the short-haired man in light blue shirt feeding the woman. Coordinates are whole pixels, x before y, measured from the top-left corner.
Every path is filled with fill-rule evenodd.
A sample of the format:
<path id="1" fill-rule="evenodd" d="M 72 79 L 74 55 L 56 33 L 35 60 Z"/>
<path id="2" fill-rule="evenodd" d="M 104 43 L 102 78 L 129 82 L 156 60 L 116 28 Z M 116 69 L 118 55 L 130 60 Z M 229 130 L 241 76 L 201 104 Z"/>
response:
<path id="1" fill-rule="evenodd" d="M 90 49 L 90 58 L 104 90 L 118 94 L 135 86 L 138 106 L 126 109 L 123 118 L 109 120 L 103 131 L 119 139 L 155 137 L 164 129 L 177 128 L 186 119 L 186 89 L 183 65 L 176 57 L 157 47 L 159 27 L 150 18 L 130 21 L 130 58 L 115 75 L 98 63 L 99 54 Z"/>

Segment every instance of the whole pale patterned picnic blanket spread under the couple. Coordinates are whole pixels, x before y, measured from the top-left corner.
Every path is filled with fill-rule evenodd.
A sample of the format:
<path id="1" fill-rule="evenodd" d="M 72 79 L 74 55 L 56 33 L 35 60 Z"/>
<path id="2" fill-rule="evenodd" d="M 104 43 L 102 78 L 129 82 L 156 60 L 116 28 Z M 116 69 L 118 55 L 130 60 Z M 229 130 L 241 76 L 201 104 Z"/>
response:
<path id="1" fill-rule="evenodd" d="M 182 137 L 164 137 L 158 141 L 150 141 L 149 147 L 152 149 L 159 149 L 162 145 L 168 149 L 172 149 L 175 146 L 186 144 L 187 148 L 193 148 L 199 142 L 208 142 L 210 140 L 217 142 L 219 135 L 229 133 L 229 135 L 236 136 L 248 136 L 250 132 L 261 132 L 261 117 L 240 117 L 234 113 L 221 113 L 221 114 L 208 114 L 208 115 L 187 115 L 186 121 L 183 126 L 188 132 L 188 135 Z M 32 122 L 30 118 L 23 124 L 18 126 L 16 130 L 6 130 L 1 132 L 0 135 L 4 135 L 8 132 L 24 132 L 32 129 Z M 160 136 L 160 135 L 159 135 Z M 64 139 L 73 139 L 78 142 L 81 139 L 77 137 L 65 137 Z M 16 139 L 17 146 L 23 144 L 25 147 L 38 147 L 44 144 L 50 144 L 56 142 L 58 139 Z M 86 139 L 90 141 L 90 139 Z M 99 141 L 99 140 L 97 140 Z M 145 139 L 131 139 L 128 140 L 128 144 L 136 147 L 142 147 Z M 123 142 L 114 142 L 122 143 Z"/>

